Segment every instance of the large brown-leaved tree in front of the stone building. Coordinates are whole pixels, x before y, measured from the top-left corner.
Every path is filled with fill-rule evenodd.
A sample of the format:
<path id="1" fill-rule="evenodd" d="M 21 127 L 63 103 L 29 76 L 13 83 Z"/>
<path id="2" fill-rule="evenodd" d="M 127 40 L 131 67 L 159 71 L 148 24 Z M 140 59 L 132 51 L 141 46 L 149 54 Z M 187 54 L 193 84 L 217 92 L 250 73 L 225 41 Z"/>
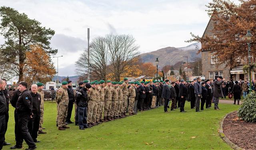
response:
<path id="1" fill-rule="evenodd" d="M 214 23 L 212 32 L 215 37 L 199 37 L 191 33 L 192 39 L 187 42 L 201 42 L 202 51 L 210 51 L 216 58 L 216 66 L 225 64 L 233 68 L 238 60 L 247 59 L 241 54 L 247 54 L 247 42 L 244 36 L 246 30 L 256 32 L 256 0 L 240 0 L 242 4 L 235 4 L 229 0 L 213 0 L 207 5 L 208 15 Z M 255 58 L 256 37 L 252 36 L 250 54 Z"/>

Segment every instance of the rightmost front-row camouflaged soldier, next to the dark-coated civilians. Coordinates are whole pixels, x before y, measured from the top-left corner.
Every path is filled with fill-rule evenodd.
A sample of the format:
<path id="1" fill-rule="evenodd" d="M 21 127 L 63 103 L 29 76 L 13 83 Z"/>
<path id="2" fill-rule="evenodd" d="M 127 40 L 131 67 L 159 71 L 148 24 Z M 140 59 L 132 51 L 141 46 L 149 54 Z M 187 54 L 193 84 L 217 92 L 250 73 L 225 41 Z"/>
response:
<path id="1" fill-rule="evenodd" d="M 134 100 L 135 100 L 135 96 L 136 96 L 136 91 L 135 91 L 135 87 L 134 87 L 134 82 L 130 83 L 130 88 L 128 89 L 128 96 L 129 96 L 129 107 L 128 107 L 128 112 L 129 115 L 132 116 L 134 114 Z"/>

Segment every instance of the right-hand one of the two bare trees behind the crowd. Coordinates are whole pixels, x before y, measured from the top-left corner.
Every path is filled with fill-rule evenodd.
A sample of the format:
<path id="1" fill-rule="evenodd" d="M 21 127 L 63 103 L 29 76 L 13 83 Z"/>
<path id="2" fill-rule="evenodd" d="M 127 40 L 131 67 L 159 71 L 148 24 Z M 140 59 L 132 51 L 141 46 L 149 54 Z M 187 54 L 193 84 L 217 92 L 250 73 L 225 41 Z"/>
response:
<path id="1" fill-rule="evenodd" d="M 113 35 L 105 37 L 107 49 L 110 53 L 110 71 L 116 81 L 120 81 L 122 75 L 136 65 L 139 46 L 135 44 L 132 35 Z"/>

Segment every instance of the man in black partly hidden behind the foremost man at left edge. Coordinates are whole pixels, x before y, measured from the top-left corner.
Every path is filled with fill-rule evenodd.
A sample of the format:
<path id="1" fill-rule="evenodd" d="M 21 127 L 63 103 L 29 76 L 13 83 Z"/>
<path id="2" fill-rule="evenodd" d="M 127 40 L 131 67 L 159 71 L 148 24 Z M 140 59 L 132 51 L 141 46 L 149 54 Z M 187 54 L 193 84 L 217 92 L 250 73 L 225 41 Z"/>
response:
<path id="1" fill-rule="evenodd" d="M 7 81 L 5 79 L 2 79 L 4 81 L 4 89 L 2 92 L 4 93 L 4 97 L 6 100 L 6 114 L 5 114 L 5 132 L 7 131 L 7 126 L 8 126 L 8 120 L 9 120 L 9 99 L 10 99 L 10 92 L 9 90 L 6 89 Z M 4 137 L 4 146 L 10 145 L 10 143 L 5 142 L 5 137 Z"/>

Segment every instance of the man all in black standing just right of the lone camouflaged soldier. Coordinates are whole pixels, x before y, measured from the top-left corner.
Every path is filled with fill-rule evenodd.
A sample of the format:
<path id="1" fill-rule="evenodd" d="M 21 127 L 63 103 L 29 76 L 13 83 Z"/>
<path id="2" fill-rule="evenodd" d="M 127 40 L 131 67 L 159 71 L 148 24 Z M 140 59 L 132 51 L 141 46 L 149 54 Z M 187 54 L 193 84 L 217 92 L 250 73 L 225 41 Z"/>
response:
<path id="1" fill-rule="evenodd" d="M 73 104 L 75 102 L 74 97 L 75 96 L 74 96 L 74 91 L 72 89 L 72 81 L 68 81 L 68 114 L 67 114 L 67 118 L 66 118 L 66 124 L 74 123 L 70 120 L 72 110 L 73 110 Z"/>

